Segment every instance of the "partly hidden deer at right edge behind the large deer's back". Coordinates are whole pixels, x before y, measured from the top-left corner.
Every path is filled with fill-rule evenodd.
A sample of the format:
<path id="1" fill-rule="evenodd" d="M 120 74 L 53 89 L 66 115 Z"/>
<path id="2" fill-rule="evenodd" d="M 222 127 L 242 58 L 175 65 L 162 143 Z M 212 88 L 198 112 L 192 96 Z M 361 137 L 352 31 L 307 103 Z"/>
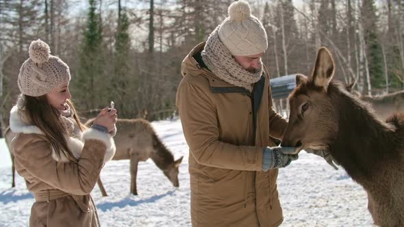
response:
<path id="1" fill-rule="evenodd" d="M 375 109 L 377 116 L 381 117 L 381 119 L 386 120 L 392 114 L 404 111 L 404 90 L 377 96 L 364 96 L 352 90 L 354 84 L 355 83 L 346 85 L 346 89 L 363 101 L 370 103 L 373 109 Z"/>

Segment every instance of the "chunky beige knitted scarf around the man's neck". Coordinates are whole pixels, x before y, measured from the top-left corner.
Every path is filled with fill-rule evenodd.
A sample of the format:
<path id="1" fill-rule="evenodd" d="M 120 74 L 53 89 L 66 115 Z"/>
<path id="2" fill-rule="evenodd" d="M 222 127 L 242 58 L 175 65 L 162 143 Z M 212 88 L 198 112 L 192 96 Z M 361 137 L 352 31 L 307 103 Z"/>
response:
<path id="1" fill-rule="evenodd" d="M 242 68 L 238 62 L 231 56 L 229 49 L 220 41 L 218 30 L 219 27 L 210 34 L 202 51 L 202 59 L 207 68 L 214 75 L 223 79 L 227 83 L 238 87 L 246 88 L 250 92 L 253 90 L 253 83 L 260 80 L 262 75 L 262 62 L 257 72 L 249 72 Z"/>

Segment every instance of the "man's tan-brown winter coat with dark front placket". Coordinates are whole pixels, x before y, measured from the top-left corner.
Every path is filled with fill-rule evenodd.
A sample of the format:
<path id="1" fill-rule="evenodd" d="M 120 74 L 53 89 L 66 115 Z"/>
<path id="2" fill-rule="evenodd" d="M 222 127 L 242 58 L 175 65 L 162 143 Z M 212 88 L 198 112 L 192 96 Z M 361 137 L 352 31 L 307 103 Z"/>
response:
<path id="1" fill-rule="evenodd" d="M 203 46 L 184 59 L 177 90 L 190 148 L 192 226 L 279 226 L 278 171 L 262 172 L 262 156 L 287 122 L 272 108 L 268 72 L 254 131 L 251 94 L 202 68 L 193 56 Z"/>

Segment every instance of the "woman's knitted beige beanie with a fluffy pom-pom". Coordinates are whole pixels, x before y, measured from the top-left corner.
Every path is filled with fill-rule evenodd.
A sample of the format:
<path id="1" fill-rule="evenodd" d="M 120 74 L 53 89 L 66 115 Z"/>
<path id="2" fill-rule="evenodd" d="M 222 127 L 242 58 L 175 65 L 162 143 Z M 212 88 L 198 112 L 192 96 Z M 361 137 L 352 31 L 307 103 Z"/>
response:
<path id="1" fill-rule="evenodd" d="M 50 55 L 48 44 L 42 40 L 29 45 L 29 59 L 21 66 L 18 88 L 28 96 L 42 96 L 70 81 L 68 66 L 59 57 Z"/>

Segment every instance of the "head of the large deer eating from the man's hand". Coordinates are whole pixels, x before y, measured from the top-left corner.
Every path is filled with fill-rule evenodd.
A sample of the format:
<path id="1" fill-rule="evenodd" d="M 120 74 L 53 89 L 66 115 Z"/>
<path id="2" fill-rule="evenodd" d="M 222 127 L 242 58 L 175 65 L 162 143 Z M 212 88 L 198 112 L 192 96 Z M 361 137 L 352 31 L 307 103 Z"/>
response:
<path id="1" fill-rule="evenodd" d="M 289 123 L 281 146 L 294 146 L 296 153 L 303 149 L 327 150 L 327 144 L 338 132 L 336 109 L 328 94 L 334 73 L 331 53 L 322 47 L 318 49 L 312 75 L 296 75 L 296 88 L 289 96 Z"/>

